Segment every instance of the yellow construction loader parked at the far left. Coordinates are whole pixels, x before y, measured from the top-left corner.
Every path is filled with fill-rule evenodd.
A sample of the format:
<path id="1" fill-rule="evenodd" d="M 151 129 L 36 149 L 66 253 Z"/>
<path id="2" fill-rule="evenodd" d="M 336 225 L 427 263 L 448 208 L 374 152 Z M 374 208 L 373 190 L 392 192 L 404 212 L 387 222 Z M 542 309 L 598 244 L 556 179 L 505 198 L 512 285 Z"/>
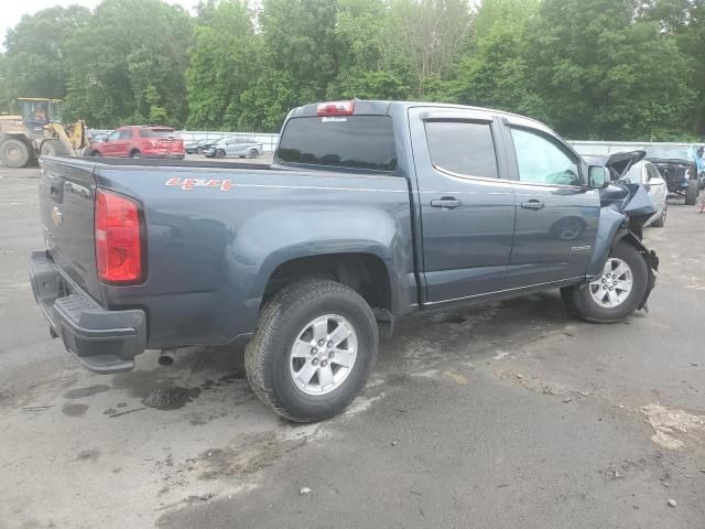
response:
<path id="1" fill-rule="evenodd" d="M 62 123 L 62 101 L 18 98 L 15 115 L 0 115 L 0 162 L 24 168 L 39 156 L 79 156 L 89 145 L 86 123 Z"/>

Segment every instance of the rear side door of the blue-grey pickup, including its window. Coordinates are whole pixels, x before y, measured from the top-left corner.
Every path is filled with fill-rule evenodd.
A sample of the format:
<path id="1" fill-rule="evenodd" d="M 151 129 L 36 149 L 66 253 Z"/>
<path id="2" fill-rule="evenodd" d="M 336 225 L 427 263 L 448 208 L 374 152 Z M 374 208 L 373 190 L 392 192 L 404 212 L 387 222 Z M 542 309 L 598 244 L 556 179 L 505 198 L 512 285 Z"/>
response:
<path id="1" fill-rule="evenodd" d="M 514 197 L 490 112 L 409 110 L 430 304 L 506 285 Z"/>

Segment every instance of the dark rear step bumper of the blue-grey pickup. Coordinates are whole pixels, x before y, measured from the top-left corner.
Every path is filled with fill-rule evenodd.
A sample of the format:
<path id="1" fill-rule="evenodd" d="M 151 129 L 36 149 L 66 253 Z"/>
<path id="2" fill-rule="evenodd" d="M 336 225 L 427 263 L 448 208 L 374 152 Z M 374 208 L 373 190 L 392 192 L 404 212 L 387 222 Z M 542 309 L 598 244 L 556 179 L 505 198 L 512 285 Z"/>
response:
<path id="1" fill-rule="evenodd" d="M 84 367 L 101 374 L 134 368 L 134 357 L 147 346 L 144 311 L 106 311 L 64 278 L 43 250 L 32 252 L 30 281 L 52 331 Z"/>

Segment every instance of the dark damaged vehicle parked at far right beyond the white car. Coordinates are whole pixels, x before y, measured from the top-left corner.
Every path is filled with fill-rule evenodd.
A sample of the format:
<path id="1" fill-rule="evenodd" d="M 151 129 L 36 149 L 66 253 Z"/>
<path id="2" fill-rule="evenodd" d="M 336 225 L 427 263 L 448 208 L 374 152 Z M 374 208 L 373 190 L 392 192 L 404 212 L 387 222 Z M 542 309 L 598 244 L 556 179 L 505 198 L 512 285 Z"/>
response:
<path id="1" fill-rule="evenodd" d="M 670 193 L 685 196 L 685 204 L 692 206 L 697 201 L 702 187 L 693 148 L 683 147 L 648 147 L 647 160 L 659 170 L 665 180 Z"/>

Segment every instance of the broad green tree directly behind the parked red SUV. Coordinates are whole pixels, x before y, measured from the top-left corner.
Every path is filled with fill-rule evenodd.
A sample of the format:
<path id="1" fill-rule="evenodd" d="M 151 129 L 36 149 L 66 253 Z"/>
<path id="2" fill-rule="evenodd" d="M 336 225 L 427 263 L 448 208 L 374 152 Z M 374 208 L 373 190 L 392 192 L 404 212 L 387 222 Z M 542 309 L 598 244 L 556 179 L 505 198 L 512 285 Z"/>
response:
<path id="1" fill-rule="evenodd" d="M 94 127 L 187 117 L 193 25 L 161 0 L 104 0 L 67 43 L 68 111 Z"/>

